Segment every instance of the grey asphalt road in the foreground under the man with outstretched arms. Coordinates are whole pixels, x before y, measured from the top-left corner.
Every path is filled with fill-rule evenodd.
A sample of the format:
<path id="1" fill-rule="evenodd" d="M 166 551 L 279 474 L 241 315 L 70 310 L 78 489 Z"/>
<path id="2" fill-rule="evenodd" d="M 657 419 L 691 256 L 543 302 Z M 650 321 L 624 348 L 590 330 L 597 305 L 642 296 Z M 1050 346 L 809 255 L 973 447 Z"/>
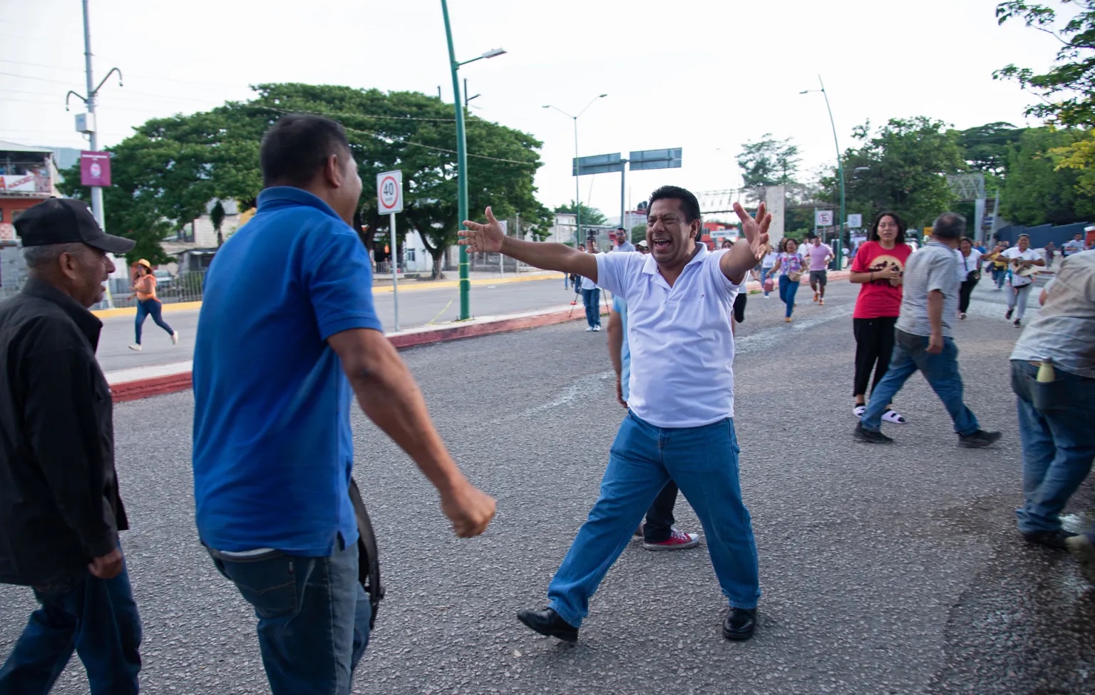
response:
<path id="1" fill-rule="evenodd" d="M 406 456 L 355 416 L 356 475 L 389 594 L 354 692 L 1095 692 L 1095 591 L 1071 558 L 1026 546 L 1014 529 L 1021 456 L 1007 356 L 1018 331 L 1003 318 L 1003 293 L 980 289 L 957 326 L 967 401 L 986 428 L 1004 431 L 993 449 L 970 451 L 919 377 L 896 399 L 909 424 L 885 426 L 896 444 L 852 440 L 854 290 L 830 289 L 816 306 L 804 288 L 791 325 L 777 299 L 753 296 L 740 327 L 736 424 L 764 592 L 745 644 L 719 635 L 725 604 L 703 545 L 629 547 L 577 646 L 514 617 L 545 602 L 623 415 L 603 333 L 573 323 L 404 352 L 498 517 L 483 537 L 454 538 Z M 194 532 L 191 413 L 189 394 L 115 410 L 142 686 L 264 693 L 254 617 Z M 1090 484 L 1074 502 L 1075 514 L 1095 506 Z M 681 499 L 678 526 L 698 525 Z M 0 658 L 33 605 L 28 590 L 0 588 Z M 54 692 L 87 692 L 77 659 Z"/>

